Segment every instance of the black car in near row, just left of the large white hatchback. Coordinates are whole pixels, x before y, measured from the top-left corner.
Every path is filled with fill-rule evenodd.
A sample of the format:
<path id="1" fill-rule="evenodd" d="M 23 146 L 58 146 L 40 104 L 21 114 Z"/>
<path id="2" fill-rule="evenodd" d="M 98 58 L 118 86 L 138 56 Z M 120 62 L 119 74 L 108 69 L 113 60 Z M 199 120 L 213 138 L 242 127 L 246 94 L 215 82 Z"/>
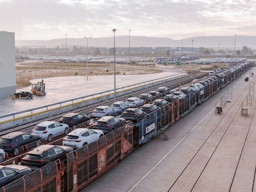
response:
<path id="1" fill-rule="evenodd" d="M 22 157 L 21 164 L 30 167 L 32 170 L 43 167 L 49 162 L 57 159 L 66 159 L 66 154 L 73 151 L 69 146 L 57 146 L 52 144 L 42 144 Z"/>

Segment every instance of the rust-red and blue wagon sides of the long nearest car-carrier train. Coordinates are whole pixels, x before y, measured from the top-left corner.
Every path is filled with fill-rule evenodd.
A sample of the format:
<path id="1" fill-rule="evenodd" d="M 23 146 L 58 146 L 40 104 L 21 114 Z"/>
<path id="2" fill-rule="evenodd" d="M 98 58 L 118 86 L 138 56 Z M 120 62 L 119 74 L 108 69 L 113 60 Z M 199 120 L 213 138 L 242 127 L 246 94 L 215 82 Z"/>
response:
<path id="1" fill-rule="evenodd" d="M 64 160 L 46 164 L 0 191 L 79 191 L 128 156 L 135 148 L 147 143 L 198 104 L 205 102 L 231 81 L 252 67 L 252 63 L 237 64 L 229 70 L 201 81 L 201 88 L 190 91 L 160 109 L 145 115 L 140 122 L 128 122 L 98 141 L 76 149 Z M 204 83 L 203 83 L 204 82 Z M 19 164 L 23 156 L 5 161 L 2 165 Z"/>

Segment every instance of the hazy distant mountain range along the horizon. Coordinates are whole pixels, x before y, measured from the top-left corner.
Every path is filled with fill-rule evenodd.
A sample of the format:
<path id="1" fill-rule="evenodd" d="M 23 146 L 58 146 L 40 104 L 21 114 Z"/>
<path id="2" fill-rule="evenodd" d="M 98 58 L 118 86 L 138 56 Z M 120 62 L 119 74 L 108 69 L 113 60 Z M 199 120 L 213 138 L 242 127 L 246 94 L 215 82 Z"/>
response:
<path id="1" fill-rule="evenodd" d="M 193 40 L 193 41 L 192 41 Z M 157 38 L 148 36 L 130 36 L 130 47 L 191 47 L 195 48 L 231 48 L 234 49 L 235 36 L 195 36 L 181 40 L 171 38 Z M 116 47 L 129 47 L 129 36 L 116 36 Z M 67 46 L 87 46 L 84 38 L 67 38 Z M 54 40 L 16 40 L 15 46 L 66 46 L 66 38 Z M 113 48 L 113 37 L 91 38 L 88 40 L 88 46 Z M 242 46 L 256 49 L 256 36 L 236 36 L 236 49 Z"/>

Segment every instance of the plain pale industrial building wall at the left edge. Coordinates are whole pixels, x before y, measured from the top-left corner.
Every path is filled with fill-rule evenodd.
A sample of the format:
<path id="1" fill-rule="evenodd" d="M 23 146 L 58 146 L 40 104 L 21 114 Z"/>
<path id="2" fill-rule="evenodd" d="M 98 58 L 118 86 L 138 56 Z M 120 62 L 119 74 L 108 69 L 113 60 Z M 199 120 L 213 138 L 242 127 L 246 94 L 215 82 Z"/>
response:
<path id="1" fill-rule="evenodd" d="M 0 99 L 16 93 L 15 34 L 0 31 Z"/>

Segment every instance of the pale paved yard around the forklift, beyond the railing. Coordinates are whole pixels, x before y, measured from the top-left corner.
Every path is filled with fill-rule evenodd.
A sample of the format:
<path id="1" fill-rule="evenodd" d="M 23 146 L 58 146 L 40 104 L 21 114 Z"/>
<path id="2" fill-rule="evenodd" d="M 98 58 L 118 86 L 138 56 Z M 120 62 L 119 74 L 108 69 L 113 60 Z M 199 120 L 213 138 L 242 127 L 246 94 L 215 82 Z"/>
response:
<path id="1" fill-rule="evenodd" d="M 159 66 L 158 69 L 163 69 L 163 72 L 146 75 L 116 75 L 116 88 L 183 72 L 180 69 L 173 69 L 171 66 Z M 41 81 L 41 79 L 32 80 L 31 82 L 36 83 L 38 81 Z M 45 96 L 35 96 L 33 99 L 16 99 L 15 101 L 12 99 L 1 100 L 0 115 L 114 90 L 114 76 L 109 75 L 90 76 L 89 80 L 86 80 L 84 76 L 45 78 L 44 82 L 46 85 Z M 29 86 L 17 90 L 17 92 L 30 90 L 31 87 Z"/>

